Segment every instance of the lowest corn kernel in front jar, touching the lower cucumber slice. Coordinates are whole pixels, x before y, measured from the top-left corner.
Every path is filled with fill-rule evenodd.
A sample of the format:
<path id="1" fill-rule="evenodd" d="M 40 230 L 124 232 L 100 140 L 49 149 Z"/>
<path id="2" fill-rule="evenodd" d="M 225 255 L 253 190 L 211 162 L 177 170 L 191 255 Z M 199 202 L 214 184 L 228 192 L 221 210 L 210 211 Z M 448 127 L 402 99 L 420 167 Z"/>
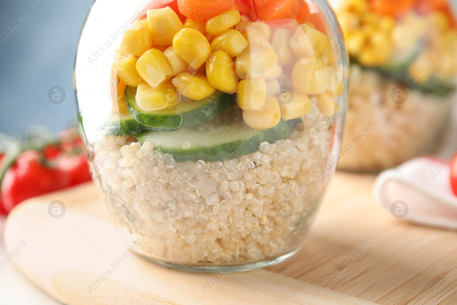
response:
<path id="1" fill-rule="evenodd" d="M 281 121 L 281 108 L 274 96 L 267 96 L 265 105 L 257 111 L 243 110 L 244 122 L 250 127 L 263 130 L 275 127 Z"/>

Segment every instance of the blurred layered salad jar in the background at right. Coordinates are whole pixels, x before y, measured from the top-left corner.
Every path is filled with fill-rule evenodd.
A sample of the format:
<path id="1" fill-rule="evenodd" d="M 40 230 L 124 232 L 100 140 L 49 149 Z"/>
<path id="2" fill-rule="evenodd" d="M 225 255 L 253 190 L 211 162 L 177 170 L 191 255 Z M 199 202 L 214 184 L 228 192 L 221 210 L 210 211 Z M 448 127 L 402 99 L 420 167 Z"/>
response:
<path id="1" fill-rule="evenodd" d="M 456 22 L 446 0 L 333 5 L 351 58 L 339 168 L 376 171 L 433 153 L 457 74 Z"/>

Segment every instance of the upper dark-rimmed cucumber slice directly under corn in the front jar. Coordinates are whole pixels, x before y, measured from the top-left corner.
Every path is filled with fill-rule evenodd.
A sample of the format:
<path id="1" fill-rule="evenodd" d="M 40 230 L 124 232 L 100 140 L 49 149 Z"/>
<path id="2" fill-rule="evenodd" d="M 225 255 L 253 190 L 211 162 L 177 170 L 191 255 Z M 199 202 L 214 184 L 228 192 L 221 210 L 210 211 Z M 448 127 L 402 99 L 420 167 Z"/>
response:
<path id="1" fill-rule="evenodd" d="M 137 88 L 127 86 L 125 97 L 128 111 L 143 126 L 149 128 L 178 129 L 212 120 L 219 113 L 234 104 L 236 95 L 218 91 L 201 101 L 194 101 L 185 96 L 174 107 L 148 112 L 141 110 L 135 100 Z"/>

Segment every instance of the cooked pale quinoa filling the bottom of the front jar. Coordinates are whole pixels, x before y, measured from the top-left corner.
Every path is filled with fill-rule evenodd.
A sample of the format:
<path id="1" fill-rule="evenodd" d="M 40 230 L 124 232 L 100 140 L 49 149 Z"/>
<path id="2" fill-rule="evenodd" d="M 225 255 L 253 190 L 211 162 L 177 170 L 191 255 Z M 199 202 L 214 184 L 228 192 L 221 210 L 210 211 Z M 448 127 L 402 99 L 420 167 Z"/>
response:
<path id="1" fill-rule="evenodd" d="M 93 144 L 96 185 L 126 242 L 141 241 L 138 253 L 152 260 L 213 266 L 302 246 L 332 157 L 333 119 L 315 102 L 287 139 L 230 161 L 175 162 L 128 137 Z"/>

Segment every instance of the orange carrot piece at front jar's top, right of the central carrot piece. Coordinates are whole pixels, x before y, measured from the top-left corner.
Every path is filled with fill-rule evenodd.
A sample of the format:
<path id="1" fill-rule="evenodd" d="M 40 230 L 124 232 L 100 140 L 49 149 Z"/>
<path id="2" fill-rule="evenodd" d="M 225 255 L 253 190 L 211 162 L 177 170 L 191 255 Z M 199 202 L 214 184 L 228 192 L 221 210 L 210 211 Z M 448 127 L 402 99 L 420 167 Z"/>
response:
<path id="1" fill-rule="evenodd" d="M 260 20 L 295 18 L 300 10 L 299 0 L 255 0 L 254 2 Z"/>

